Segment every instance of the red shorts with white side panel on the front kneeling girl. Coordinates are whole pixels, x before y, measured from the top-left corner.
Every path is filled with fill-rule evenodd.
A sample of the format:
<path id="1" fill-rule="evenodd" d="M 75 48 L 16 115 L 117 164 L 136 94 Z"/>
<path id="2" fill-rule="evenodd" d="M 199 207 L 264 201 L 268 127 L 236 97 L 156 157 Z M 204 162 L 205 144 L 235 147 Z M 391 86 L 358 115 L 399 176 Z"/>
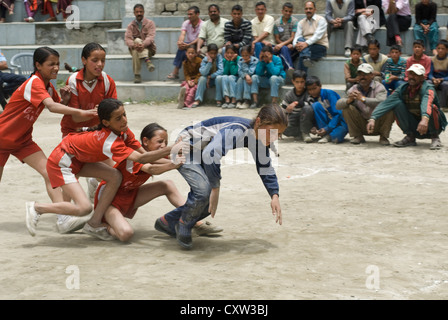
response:
<path id="1" fill-rule="evenodd" d="M 76 175 L 81 171 L 84 163 L 78 161 L 73 155 L 65 153 L 57 147 L 47 160 L 47 173 L 53 188 L 78 182 Z"/>

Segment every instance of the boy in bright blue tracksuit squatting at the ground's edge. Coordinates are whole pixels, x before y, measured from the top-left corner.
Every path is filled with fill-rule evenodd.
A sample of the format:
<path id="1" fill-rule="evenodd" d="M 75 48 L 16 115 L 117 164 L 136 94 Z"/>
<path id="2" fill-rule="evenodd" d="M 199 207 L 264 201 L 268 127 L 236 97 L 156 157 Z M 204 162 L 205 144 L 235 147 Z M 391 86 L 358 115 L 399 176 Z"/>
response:
<path id="1" fill-rule="evenodd" d="M 341 98 L 339 94 L 333 90 L 322 89 L 322 83 L 316 76 L 307 78 L 306 90 L 317 125 L 317 128 L 311 128 L 310 132 L 320 137 L 318 143 L 343 142 L 348 133 L 348 127 L 342 111 L 336 109 L 336 103 Z"/>

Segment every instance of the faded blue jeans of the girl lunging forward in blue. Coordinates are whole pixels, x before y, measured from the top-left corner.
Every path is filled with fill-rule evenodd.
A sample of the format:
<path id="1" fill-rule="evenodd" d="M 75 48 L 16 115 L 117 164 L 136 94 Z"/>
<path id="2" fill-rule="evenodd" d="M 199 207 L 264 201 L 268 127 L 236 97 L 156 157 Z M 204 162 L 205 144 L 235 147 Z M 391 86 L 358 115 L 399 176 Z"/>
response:
<path id="1" fill-rule="evenodd" d="M 175 232 L 174 226 L 180 218 L 191 229 L 196 221 L 202 220 L 210 214 L 208 209 L 212 189 L 202 166 L 194 164 L 197 162 L 191 160 L 193 158 L 192 154 L 190 155 L 190 163 L 185 163 L 177 169 L 190 186 L 187 201 L 183 206 L 165 214 L 165 219 L 173 232 Z"/>

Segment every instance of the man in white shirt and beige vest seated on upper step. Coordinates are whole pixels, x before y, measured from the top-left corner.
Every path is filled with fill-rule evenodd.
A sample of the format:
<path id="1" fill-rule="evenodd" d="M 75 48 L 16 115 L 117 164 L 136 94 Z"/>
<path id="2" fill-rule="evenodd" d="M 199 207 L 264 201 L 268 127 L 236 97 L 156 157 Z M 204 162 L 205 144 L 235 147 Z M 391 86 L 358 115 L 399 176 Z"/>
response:
<path id="1" fill-rule="evenodd" d="M 316 14 L 316 6 L 313 1 L 305 2 L 306 18 L 297 24 L 297 32 L 293 45 L 299 51 L 298 69 L 307 72 L 313 65 L 313 60 L 318 60 L 327 55 L 328 35 L 327 20 Z"/>

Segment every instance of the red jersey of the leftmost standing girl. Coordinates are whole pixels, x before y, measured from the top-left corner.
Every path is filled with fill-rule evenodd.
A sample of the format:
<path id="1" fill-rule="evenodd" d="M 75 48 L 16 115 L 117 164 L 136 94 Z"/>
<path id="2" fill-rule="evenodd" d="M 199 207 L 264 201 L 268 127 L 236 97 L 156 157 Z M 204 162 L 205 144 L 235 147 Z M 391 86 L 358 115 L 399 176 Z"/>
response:
<path id="1" fill-rule="evenodd" d="M 0 149 L 11 150 L 32 138 L 33 124 L 44 109 L 43 100 L 60 102 L 56 89 L 45 83 L 39 72 L 26 80 L 11 96 L 0 115 Z"/>

